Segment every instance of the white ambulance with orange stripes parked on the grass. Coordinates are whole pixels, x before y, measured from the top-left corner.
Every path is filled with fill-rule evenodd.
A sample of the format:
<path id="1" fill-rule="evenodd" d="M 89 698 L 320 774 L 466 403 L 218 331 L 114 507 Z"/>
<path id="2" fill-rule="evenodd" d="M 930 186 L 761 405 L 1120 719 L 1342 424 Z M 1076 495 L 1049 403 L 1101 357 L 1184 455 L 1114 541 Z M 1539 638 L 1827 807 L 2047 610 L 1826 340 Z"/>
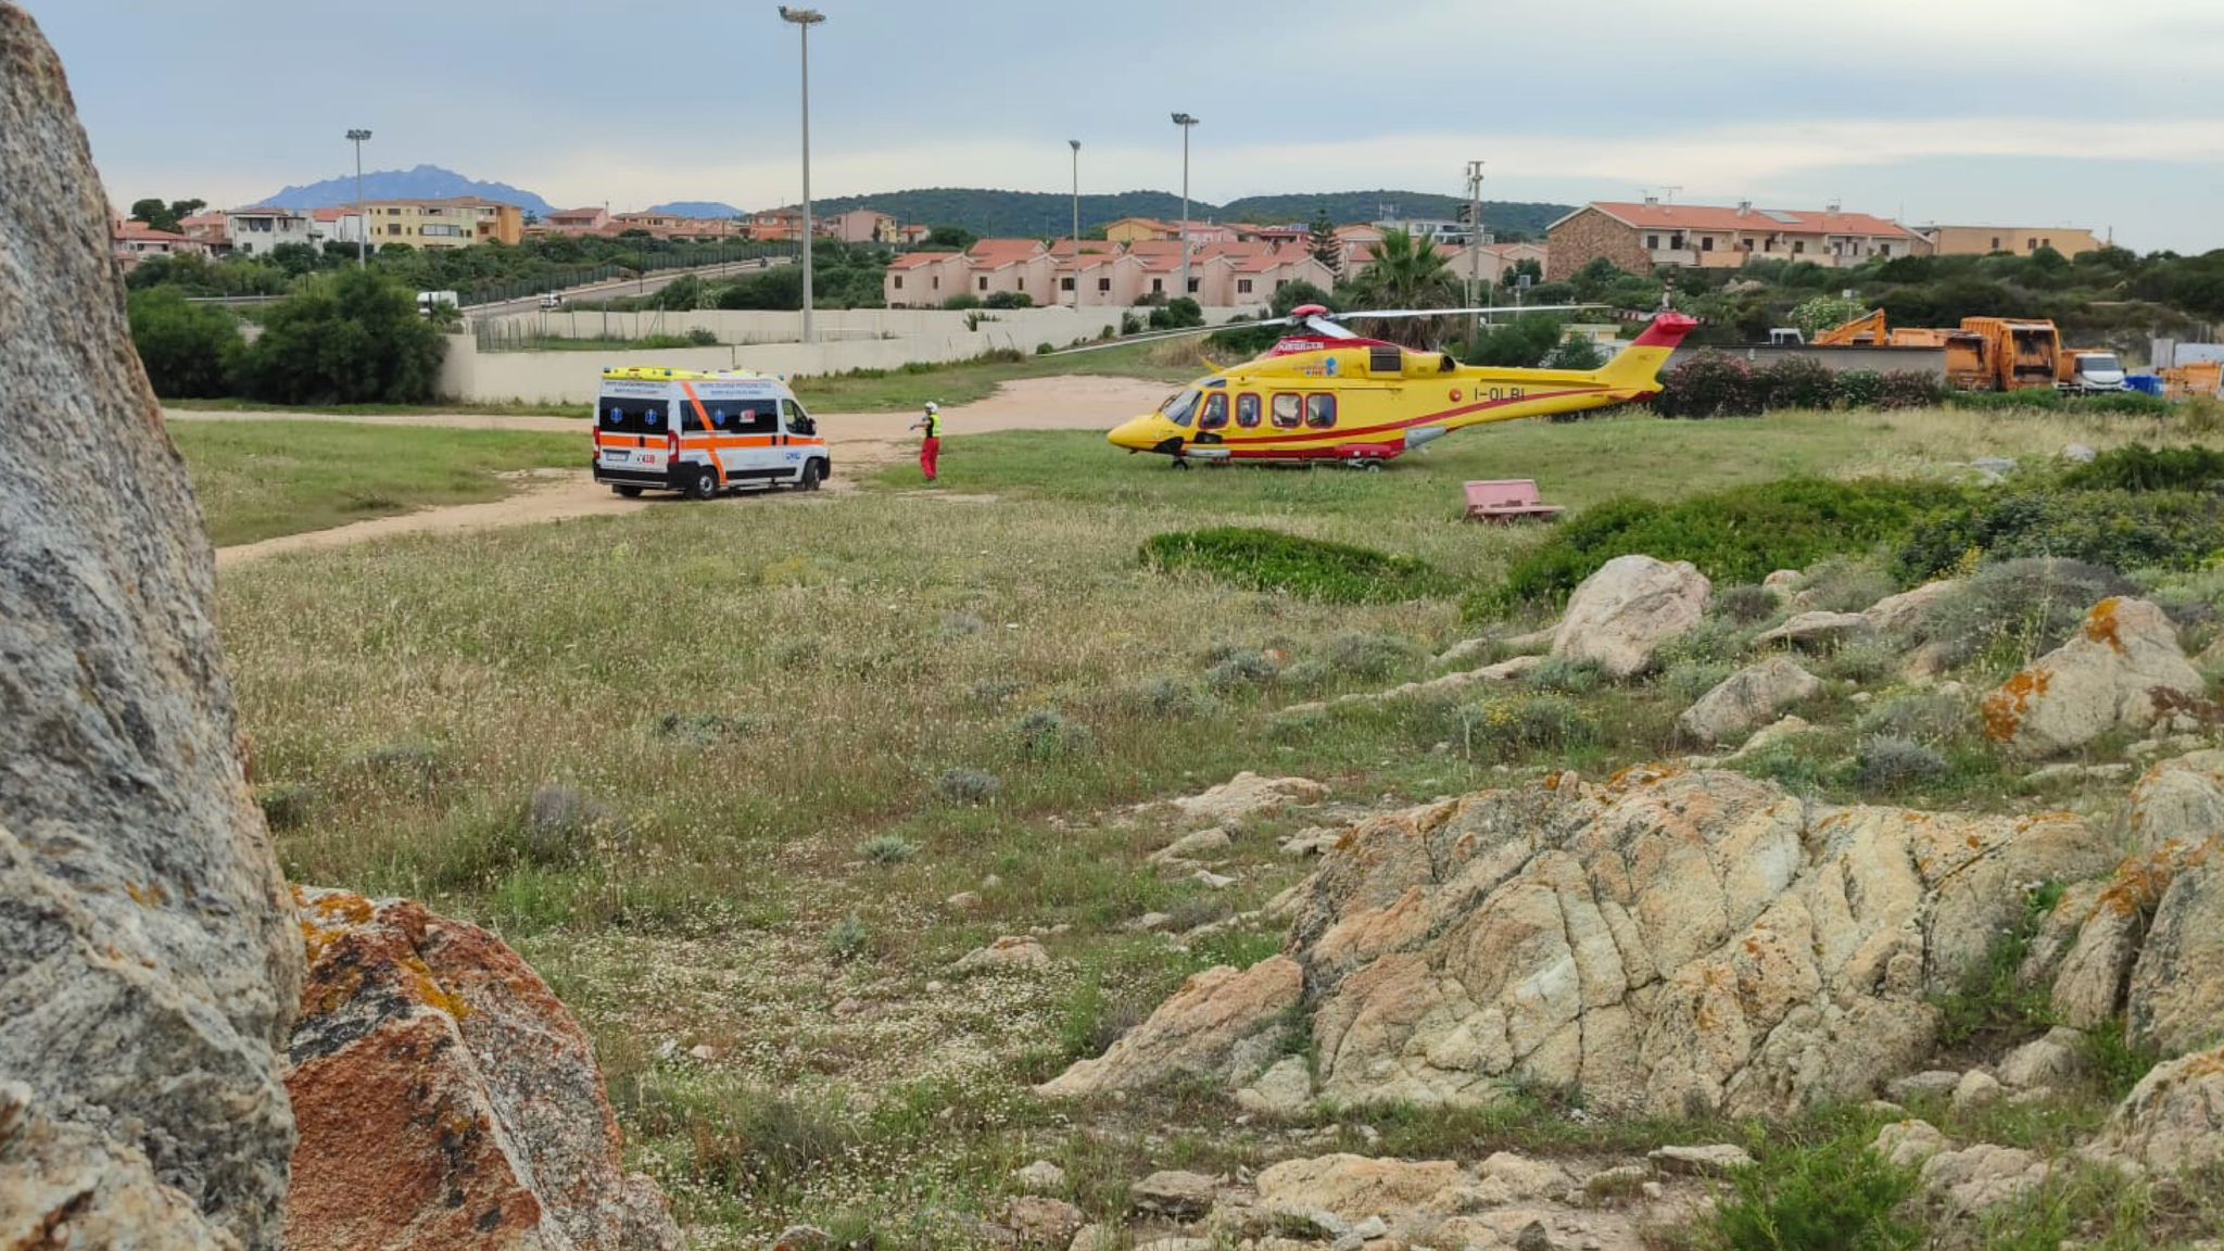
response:
<path id="1" fill-rule="evenodd" d="M 818 490 L 827 441 L 787 383 L 749 372 L 603 370 L 594 401 L 594 481 L 623 496 L 736 487 Z"/>

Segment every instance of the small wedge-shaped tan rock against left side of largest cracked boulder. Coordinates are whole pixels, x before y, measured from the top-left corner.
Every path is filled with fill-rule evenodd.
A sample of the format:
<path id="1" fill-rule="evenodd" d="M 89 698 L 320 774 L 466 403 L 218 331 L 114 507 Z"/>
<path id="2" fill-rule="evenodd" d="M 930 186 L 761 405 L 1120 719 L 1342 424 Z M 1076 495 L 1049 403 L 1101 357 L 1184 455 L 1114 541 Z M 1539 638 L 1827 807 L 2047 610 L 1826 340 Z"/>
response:
<path id="1" fill-rule="evenodd" d="M 1250 1077 L 1274 1055 L 1283 1015 L 1303 988 L 1297 962 L 1274 955 L 1245 971 L 1208 968 L 1181 984 L 1148 1022 L 1110 1051 L 1081 1060 L 1034 1091 L 1076 1100 L 1136 1091 L 1174 1073 Z"/>

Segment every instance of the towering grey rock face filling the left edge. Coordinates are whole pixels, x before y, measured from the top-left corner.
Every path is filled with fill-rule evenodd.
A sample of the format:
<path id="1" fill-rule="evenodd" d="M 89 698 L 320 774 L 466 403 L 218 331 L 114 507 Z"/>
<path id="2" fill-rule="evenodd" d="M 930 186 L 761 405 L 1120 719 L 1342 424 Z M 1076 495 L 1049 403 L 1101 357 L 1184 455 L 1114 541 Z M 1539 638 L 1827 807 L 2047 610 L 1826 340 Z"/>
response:
<path id="1" fill-rule="evenodd" d="M 0 1247 L 274 1247 L 300 937 L 109 200 L 7 0 L 0 187 Z"/>

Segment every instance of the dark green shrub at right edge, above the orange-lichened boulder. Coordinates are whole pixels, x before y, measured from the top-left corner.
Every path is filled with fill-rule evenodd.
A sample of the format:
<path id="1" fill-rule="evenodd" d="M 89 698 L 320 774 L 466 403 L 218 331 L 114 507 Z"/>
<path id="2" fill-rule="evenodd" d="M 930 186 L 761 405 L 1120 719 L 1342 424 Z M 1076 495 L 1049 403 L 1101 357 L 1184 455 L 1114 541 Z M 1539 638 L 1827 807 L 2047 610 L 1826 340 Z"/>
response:
<path id="1" fill-rule="evenodd" d="M 2013 487 L 1968 499 L 1917 525 L 1899 548 L 1895 572 L 1902 581 L 1924 581 L 1968 552 L 2188 570 L 2217 548 L 2224 548 L 2224 496 L 2217 494 Z"/>

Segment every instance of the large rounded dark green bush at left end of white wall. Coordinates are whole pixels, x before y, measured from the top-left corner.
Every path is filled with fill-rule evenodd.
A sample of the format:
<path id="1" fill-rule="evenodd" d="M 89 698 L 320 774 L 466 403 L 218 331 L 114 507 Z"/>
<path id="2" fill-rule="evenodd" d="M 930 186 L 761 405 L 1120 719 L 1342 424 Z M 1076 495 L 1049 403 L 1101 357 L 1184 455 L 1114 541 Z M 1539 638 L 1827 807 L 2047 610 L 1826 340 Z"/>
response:
<path id="1" fill-rule="evenodd" d="M 262 316 L 240 352 L 238 385 L 271 403 L 425 403 L 447 338 L 416 294 L 376 269 L 307 278 Z"/>

